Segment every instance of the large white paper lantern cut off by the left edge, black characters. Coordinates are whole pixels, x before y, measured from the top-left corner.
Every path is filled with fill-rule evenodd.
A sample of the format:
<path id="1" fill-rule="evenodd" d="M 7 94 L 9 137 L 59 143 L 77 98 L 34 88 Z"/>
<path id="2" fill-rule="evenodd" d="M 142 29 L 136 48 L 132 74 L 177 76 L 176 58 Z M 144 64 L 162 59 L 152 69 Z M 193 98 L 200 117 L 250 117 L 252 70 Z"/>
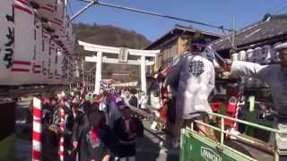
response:
<path id="1" fill-rule="evenodd" d="M 0 1 L 0 85 L 11 81 L 11 68 L 14 55 L 14 16 L 13 1 Z"/>

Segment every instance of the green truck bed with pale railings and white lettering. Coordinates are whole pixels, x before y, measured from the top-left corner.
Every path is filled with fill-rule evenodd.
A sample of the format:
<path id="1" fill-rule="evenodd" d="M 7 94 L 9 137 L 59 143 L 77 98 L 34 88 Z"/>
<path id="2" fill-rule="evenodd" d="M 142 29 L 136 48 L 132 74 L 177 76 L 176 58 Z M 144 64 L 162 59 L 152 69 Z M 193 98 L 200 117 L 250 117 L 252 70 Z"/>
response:
<path id="1" fill-rule="evenodd" d="M 210 114 L 219 118 L 220 125 L 211 125 L 198 121 L 196 121 L 196 123 L 200 123 L 217 131 L 219 134 L 218 138 L 220 139 L 216 141 L 200 135 L 194 131 L 194 125 L 192 123 L 190 127 L 181 130 L 180 161 L 279 161 L 286 159 L 284 156 L 286 156 L 287 150 L 276 148 L 276 146 L 247 135 L 234 135 L 224 129 L 224 120 L 230 119 L 245 124 L 246 126 L 269 131 L 275 136 L 286 134 L 286 132 L 278 131 L 257 123 L 234 119 L 222 114 Z M 233 136 L 236 140 L 230 140 L 228 136 Z"/>

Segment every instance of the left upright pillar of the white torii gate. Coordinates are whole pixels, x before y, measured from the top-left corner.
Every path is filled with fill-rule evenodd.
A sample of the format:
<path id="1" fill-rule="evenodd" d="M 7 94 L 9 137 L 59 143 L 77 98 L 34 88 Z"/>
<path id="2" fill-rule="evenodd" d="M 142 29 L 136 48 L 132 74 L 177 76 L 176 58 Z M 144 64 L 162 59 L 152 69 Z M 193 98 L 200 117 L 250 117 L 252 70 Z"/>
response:
<path id="1" fill-rule="evenodd" d="M 100 94 L 101 64 L 102 64 L 102 52 L 97 52 L 97 67 L 96 67 L 95 91 L 94 91 L 94 93 L 97 95 Z"/>

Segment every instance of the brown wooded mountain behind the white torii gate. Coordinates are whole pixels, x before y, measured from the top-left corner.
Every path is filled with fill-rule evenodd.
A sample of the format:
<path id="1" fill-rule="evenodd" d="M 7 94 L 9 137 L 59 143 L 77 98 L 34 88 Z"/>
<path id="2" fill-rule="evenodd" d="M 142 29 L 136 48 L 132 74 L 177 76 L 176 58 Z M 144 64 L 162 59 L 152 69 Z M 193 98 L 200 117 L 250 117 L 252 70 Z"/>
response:
<path id="1" fill-rule="evenodd" d="M 112 47 L 128 47 L 143 49 L 150 44 L 150 41 L 143 35 L 136 33 L 134 30 L 121 29 L 111 25 L 83 24 L 74 25 L 76 37 L 88 43 Z M 83 50 L 78 44 L 75 47 L 74 55 L 85 56 L 93 55 L 92 52 Z M 104 54 L 105 55 L 105 54 Z M 117 58 L 117 56 L 115 57 Z M 84 71 L 89 71 L 94 64 L 86 63 Z M 138 67 L 135 65 L 115 65 L 103 64 L 103 79 L 110 78 L 113 72 L 135 72 Z"/>

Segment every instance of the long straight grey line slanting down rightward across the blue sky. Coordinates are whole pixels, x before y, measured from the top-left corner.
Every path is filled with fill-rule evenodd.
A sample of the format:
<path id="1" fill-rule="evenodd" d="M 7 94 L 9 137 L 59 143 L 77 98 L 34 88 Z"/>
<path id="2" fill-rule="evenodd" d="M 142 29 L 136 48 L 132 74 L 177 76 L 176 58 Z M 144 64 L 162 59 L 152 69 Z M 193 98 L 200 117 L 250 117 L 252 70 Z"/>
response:
<path id="1" fill-rule="evenodd" d="M 175 16 L 165 15 L 165 14 L 162 14 L 162 13 L 154 13 L 154 12 L 150 12 L 150 11 L 146 11 L 146 10 L 135 9 L 135 8 L 121 6 L 121 5 L 117 5 L 117 4 L 101 3 L 99 1 L 94 2 L 94 1 L 91 1 L 91 0 L 80 0 L 80 1 L 83 1 L 83 2 L 86 2 L 86 3 L 90 3 L 90 4 L 91 3 L 99 4 L 99 5 L 102 5 L 102 6 L 107 6 L 107 7 L 111 7 L 111 8 L 117 8 L 117 9 L 121 9 L 121 10 L 135 12 L 135 13 L 150 14 L 150 15 L 159 16 L 159 17 L 167 18 L 167 19 L 171 19 L 171 20 L 185 21 L 185 22 L 188 22 L 188 23 L 194 23 L 194 24 L 197 24 L 197 25 L 202 25 L 202 26 L 206 26 L 206 27 L 214 28 L 214 29 L 231 31 L 230 29 L 224 28 L 223 26 L 217 26 L 217 25 L 213 25 L 213 24 L 209 24 L 209 23 L 200 22 L 200 21 L 187 20 L 187 19 L 178 18 L 178 17 L 175 17 Z"/>

